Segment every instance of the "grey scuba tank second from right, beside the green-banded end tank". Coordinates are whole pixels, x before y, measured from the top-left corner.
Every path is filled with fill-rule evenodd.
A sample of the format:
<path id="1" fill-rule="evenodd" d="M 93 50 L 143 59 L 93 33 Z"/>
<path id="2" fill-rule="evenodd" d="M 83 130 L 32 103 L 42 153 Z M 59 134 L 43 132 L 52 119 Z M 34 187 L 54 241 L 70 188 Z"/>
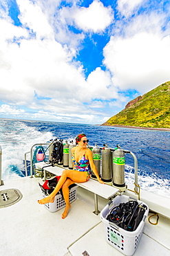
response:
<path id="1" fill-rule="evenodd" d="M 105 183 L 108 183 L 108 185 L 111 184 L 111 151 L 107 147 L 107 144 L 104 145 L 102 149 L 102 181 Z"/>

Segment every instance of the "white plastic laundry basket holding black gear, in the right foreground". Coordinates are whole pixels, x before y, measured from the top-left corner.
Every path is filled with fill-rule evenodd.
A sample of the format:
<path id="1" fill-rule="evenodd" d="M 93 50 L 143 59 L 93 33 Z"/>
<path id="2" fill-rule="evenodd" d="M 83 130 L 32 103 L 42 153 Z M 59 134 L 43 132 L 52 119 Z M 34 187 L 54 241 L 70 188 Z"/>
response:
<path id="1" fill-rule="evenodd" d="M 117 250 L 120 250 L 121 253 L 125 255 L 133 255 L 141 238 L 142 230 L 144 227 L 145 219 L 148 215 L 149 208 L 146 203 L 138 200 L 138 204 L 142 203 L 146 206 L 145 213 L 140 221 L 138 227 L 134 231 L 127 231 L 123 228 L 120 228 L 115 223 L 108 221 L 106 218 L 111 212 L 111 210 L 120 203 L 127 203 L 129 196 L 116 196 L 112 200 L 111 205 L 107 204 L 105 208 L 100 212 L 100 219 L 103 221 L 104 230 L 105 230 L 105 239 L 111 245 L 114 246 Z"/>

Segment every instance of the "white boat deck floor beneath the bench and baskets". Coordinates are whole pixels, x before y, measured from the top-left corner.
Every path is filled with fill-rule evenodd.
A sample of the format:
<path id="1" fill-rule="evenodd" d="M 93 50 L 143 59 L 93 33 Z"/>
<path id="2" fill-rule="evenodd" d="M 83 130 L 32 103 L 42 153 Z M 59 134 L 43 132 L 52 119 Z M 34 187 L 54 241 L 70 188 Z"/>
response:
<path id="1" fill-rule="evenodd" d="M 77 199 L 66 219 L 61 219 L 64 209 L 50 212 L 37 203 L 42 198 L 41 179 L 25 177 L 4 181 L 0 190 L 15 188 L 23 194 L 21 201 L 0 208 L 1 255 L 24 256 L 78 256 L 85 251 L 90 256 L 123 255 L 105 241 L 103 222 L 94 211 L 94 195 L 77 189 Z M 99 197 L 102 210 L 107 200 Z M 170 255 L 170 220 L 160 216 L 158 225 L 147 220 L 135 256 Z"/>

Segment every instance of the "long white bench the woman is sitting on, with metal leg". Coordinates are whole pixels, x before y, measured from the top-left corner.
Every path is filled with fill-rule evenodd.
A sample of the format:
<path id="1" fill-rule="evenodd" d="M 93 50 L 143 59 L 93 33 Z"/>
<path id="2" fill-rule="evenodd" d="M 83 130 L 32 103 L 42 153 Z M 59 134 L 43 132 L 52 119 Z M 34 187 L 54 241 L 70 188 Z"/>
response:
<path id="1" fill-rule="evenodd" d="M 45 164 L 43 162 L 39 162 L 35 164 L 36 169 L 42 170 L 44 172 L 44 179 L 46 177 L 46 172 L 51 172 L 52 174 L 56 176 L 61 176 L 63 170 L 67 168 L 59 167 L 59 166 L 49 166 L 48 164 Z M 72 170 L 70 170 L 71 172 Z M 89 190 L 90 192 L 94 193 L 94 205 L 95 210 L 94 214 L 98 214 L 98 197 L 101 196 L 105 199 L 111 198 L 111 196 L 114 196 L 119 190 L 117 188 L 111 187 L 110 185 L 101 184 L 98 181 L 95 181 L 94 179 L 89 179 L 87 182 L 83 183 L 75 183 L 81 188 L 84 188 L 85 190 Z"/>

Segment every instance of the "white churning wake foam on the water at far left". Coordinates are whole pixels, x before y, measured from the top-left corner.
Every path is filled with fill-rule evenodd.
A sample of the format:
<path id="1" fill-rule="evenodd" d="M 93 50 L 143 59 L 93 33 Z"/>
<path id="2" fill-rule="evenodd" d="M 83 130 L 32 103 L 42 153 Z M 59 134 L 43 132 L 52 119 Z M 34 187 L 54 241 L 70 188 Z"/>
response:
<path id="1" fill-rule="evenodd" d="M 14 122 L 12 127 L 3 131 L 2 149 L 2 179 L 15 179 L 22 176 L 25 152 L 29 152 L 32 145 L 46 143 L 52 138 L 52 133 L 40 132 L 36 127 L 29 127 L 23 122 Z M 30 154 L 27 155 L 30 160 Z"/>

